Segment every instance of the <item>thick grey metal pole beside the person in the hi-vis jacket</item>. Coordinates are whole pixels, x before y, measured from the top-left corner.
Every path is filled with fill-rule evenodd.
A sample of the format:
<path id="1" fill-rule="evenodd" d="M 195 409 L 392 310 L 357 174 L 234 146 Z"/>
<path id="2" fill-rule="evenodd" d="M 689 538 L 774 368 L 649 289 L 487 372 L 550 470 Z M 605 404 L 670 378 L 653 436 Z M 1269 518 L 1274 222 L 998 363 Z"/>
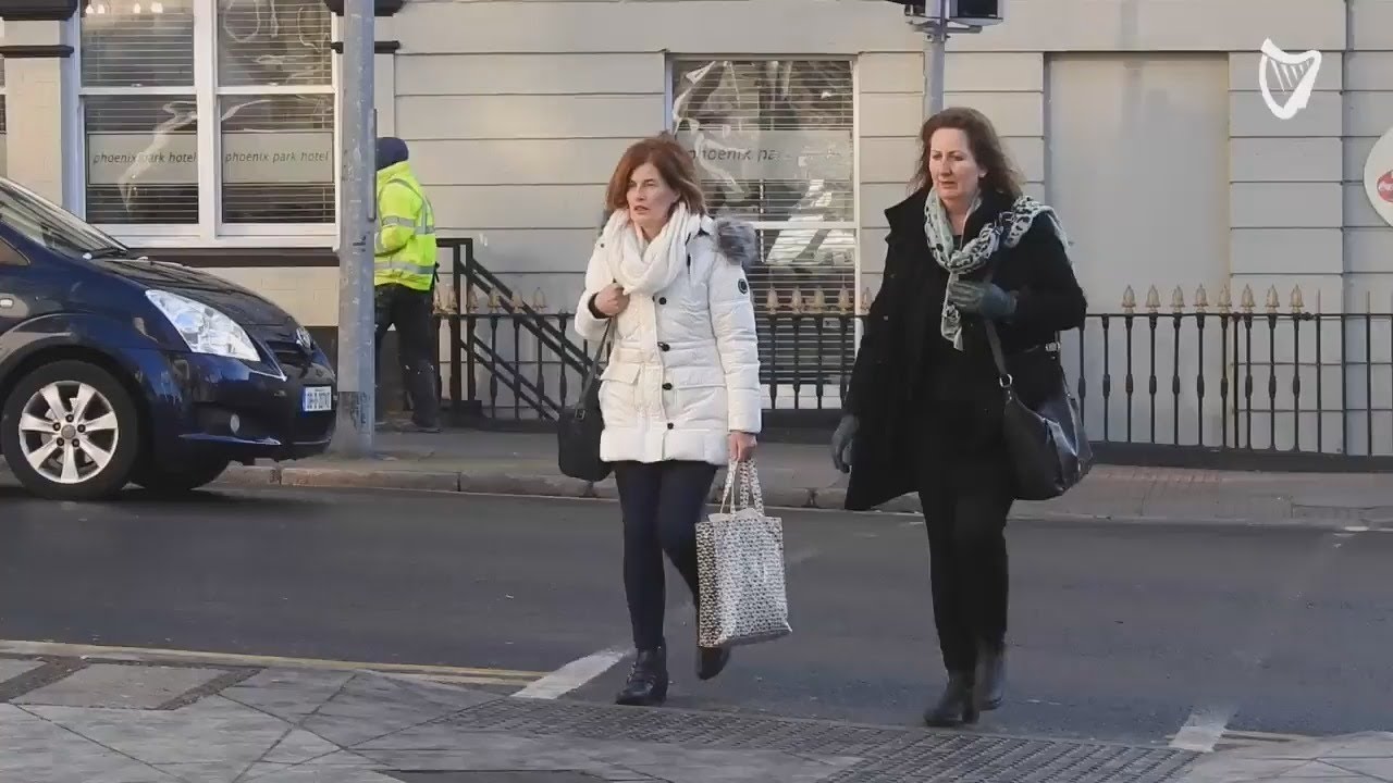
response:
<path id="1" fill-rule="evenodd" d="M 338 428 L 334 451 L 368 457 L 376 425 L 372 262 L 376 245 L 373 0 L 344 0 L 338 194 Z"/>

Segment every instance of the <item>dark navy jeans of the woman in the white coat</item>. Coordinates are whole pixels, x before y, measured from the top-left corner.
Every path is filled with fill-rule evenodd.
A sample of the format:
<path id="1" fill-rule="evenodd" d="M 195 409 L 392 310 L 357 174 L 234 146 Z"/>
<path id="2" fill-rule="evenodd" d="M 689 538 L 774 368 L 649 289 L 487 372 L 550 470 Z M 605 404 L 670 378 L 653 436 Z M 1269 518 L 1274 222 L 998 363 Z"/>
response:
<path id="1" fill-rule="evenodd" d="M 706 463 L 616 463 L 614 482 L 624 514 L 624 594 L 634 646 L 664 644 L 667 607 L 663 553 L 699 606 L 696 522 L 706 506 L 716 465 Z"/>

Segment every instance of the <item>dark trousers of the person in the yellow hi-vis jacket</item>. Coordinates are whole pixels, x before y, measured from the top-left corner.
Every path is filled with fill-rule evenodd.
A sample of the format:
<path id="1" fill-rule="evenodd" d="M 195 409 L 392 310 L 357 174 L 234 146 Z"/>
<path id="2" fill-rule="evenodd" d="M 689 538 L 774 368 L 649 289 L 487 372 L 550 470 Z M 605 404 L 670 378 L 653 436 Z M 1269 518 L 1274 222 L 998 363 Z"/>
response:
<path id="1" fill-rule="evenodd" d="M 430 313 L 435 300 L 430 291 L 417 291 L 405 286 L 378 286 L 373 291 L 378 334 L 373 344 L 373 368 L 382 376 L 382 339 L 397 327 L 397 352 L 401 357 L 401 378 L 411 396 L 411 419 L 418 426 L 440 425 L 440 403 L 436 398 L 435 334 L 430 333 Z"/>

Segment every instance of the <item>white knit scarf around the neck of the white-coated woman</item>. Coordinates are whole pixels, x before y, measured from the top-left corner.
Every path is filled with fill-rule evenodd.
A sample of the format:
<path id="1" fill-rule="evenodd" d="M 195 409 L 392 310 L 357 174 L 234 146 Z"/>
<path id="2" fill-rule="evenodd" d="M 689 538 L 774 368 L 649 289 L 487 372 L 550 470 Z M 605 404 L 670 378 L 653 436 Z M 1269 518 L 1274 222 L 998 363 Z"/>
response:
<path id="1" fill-rule="evenodd" d="M 667 224 L 642 248 L 638 226 L 627 209 L 616 209 L 600 237 L 607 251 L 610 274 L 625 294 L 652 295 L 677 279 L 687 265 L 687 244 L 701 228 L 701 215 L 692 215 L 687 205 L 677 202 Z"/>

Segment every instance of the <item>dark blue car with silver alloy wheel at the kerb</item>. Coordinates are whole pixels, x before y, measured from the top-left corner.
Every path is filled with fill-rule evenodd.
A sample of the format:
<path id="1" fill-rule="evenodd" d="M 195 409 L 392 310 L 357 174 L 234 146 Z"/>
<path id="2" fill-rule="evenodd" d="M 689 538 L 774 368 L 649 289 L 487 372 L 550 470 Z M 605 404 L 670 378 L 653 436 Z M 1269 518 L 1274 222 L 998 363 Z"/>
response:
<path id="1" fill-rule="evenodd" d="M 0 454 L 42 497 L 188 492 L 323 453 L 337 382 L 281 308 L 0 178 Z"/>

